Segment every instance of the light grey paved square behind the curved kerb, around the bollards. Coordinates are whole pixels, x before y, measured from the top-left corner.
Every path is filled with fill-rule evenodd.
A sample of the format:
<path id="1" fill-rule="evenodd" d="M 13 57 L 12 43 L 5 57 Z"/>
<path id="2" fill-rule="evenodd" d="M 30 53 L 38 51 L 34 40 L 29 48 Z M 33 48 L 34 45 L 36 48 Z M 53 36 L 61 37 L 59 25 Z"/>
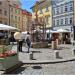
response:
<path id="1" fill-rule="evenodd" d="M 17 47 L 14 46 L 13 50 L 17 50 Z M 58 46 L 58 51 L 59 51 L 59 56 L 62 59 L 68 59 L 68 58 L 74 58 L 75 56 L 73 55 L 73 45 L 59 45 Z M 34 51 L 33 57 L 36 60 L 33 61 L 49 61 L 49 60 L 57 60 L 54 56 L 54 52 L 56 50 L 52 50 L 50 48 L 39 48 L 39 49 L 34 49 L 31 48 L 30 51 Z M 27 53 L 27 48 L 23 46 L 23 52 L 19 52 L 19 60 L 22 62 L 27 62 L 31 61 L 29 59 L 29 53 Z"/>

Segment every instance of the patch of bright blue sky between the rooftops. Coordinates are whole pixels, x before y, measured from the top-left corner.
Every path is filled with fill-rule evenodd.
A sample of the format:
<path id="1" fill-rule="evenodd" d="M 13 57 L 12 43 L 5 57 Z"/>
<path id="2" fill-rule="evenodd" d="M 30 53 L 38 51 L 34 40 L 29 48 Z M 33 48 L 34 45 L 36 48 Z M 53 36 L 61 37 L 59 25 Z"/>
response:
<path id="1" fill-rule="evenodd" d="M 20 2 L 21 2 L 21 8 L 22 9 L 26 9 L 26 10 L 28 10 L 29 12 L 32 12 L 32 9 L 30 9 L 33 5 L 34 5 L 34 3 L 36 2 L 36 1 L 38 1 L 38 0 L 20 0 Z"/>

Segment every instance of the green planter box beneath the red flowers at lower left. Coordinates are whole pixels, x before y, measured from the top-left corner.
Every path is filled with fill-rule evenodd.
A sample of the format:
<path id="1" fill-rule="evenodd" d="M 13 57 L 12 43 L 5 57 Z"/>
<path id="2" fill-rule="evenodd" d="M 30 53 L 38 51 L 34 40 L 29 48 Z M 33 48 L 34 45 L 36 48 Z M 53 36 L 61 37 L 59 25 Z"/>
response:
<path id="1" fill-rule="evenodd" d="M 0 70 L 9 69 L 18 63 L 19 61 L 17 54 L 5 58 L 0 58 Z"/>

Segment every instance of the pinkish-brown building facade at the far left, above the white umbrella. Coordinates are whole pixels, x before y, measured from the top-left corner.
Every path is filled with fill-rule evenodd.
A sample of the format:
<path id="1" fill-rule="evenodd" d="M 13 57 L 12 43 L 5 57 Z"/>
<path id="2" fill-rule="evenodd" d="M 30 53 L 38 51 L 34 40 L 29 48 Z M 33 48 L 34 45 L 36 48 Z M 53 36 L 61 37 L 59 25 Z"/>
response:
<path id="1" fill-rule="evenodd" d="M 9 24 L 9 2 L 4 0 L 0 1 L 0 23 Z"/>

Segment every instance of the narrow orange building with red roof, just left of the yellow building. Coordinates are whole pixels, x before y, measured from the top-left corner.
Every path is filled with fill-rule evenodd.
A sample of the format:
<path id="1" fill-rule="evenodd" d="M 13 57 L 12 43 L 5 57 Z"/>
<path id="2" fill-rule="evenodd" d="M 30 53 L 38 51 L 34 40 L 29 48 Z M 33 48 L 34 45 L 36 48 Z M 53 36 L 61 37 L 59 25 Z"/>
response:
<path id="1" fill-rule="evenodd" d="M 22 31 L 31 32 L 32 14 L 27 10 L 22 10 Z"/>

